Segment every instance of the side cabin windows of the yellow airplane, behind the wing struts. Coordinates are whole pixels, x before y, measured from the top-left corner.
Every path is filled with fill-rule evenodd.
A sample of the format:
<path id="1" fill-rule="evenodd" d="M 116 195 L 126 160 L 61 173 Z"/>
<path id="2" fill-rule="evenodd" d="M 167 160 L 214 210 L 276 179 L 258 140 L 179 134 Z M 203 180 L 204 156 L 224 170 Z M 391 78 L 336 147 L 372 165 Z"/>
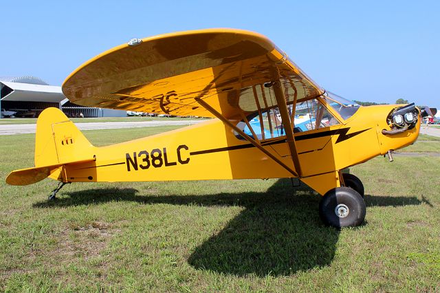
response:
<path id="1" fill-rule="evenodd" d="M 292 107 L 293 104 L 287 105 L 291 118 Z M 294 133 L 311 131 L 339 123 L 340 122 L 336 120 L 329 110 L 317 99 L 296 103 L 296 111 L 294 112 Z M 272 138 L 285 136 L 285 129 L 281 122 L 281 114 L 277 107 L 253 113 L 245 120 L 240 121 L 237 126 L 251 138 L 254 138 L 254 135 L 256 135 L 258 140 L 270 140 Z M 244 139 L 239 133 L 236 133 L 236 137 L 241 140 Z"/>

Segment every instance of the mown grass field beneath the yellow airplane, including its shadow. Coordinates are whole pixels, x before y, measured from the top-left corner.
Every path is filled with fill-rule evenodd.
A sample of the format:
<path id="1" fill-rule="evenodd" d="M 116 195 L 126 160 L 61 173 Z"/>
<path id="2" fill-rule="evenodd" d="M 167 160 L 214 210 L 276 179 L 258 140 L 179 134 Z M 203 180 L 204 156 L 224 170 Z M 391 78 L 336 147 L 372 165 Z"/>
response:
<path id="1" fill-rule="evenodd" d="M 175 128 L 85 135 L 105 145 Z M 320 197 L 289 180 L 71 184 L 47 202 L 52 180 L 4 183 L 33 166 L 34 134 L 0 140 L 1 291 L 440 288 L 438 138 L 421 135 L 395 162 L 352 167 L 366 224 L 342 230 L 323 226 Z"/>

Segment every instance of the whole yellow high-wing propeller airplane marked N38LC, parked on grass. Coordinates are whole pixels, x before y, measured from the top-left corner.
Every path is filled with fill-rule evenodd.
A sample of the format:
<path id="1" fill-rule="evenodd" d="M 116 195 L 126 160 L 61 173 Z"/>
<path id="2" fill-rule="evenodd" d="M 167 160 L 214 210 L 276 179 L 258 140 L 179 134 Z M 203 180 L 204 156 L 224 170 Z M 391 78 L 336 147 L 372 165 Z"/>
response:
<path id="1" fill-rule="evenodd" d="M 63 84 L 89 107 L 216 118 L 93 146 L 62 111 L 36 125 L 35 167 L 6 182 L 231 180 L 298 177 L 323 195 L 319 213 L 338 228 L 364 221 L 364 187 L 342 169 L 412 144 L 414 104 L 360 107 L 325 91 L 261 34 L 212 29 L 132 39 L 91 59 Z"/>

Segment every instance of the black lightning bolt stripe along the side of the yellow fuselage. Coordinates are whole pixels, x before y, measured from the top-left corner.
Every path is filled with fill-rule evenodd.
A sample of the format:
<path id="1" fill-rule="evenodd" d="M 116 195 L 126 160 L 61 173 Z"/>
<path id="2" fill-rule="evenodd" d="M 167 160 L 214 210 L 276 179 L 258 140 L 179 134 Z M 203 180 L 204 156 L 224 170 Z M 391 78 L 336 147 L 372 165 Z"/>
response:
<path id="1" fill-rule="evenodd" d="M 295 135 L 295 140 L 299 141 L 299 140 L 310 140 L 312 138 L 323 138 L 325 136 L 330 136 L 330 135 L 339 135 L 338 136 L 338 140 L 336 140 L 336 143 L 340 143 L 343 142 L 344 140 L 348 140 L 349 138 L 353 138 L 353 136 L 358 135 L 364 131 L 367 131 L 371 128 L 368 129 L 364 129 L 361 131 L 356 131 L 353 133 L 349 133 L 350 127 L 346 127 L 346 128 L 341 128 L 341 129 L 335 129 L 335 130 L 329 130 L 329 131 L 321 131 L 318 133 L 308 133 L 308 134 L 304 134 L 304 135 Z M 276 141 L 272 141 L 272 142 L 266 142 L 263 143 L 263 146 L 269 146 L 269 145 L 273 145 L 273 144 L 281 144 L 283 142 L 285 142 L 285 138 L 283 138 L 282 140 L 276 140 Z M 205 153 L 217 153 L 219 151 L 234 151 L 237 149 L 249 149 L 251 147 L 255 147 L 253 144 L 240 144 L 238 146 L 225 146 L 225 147 L 221 147 L 219 149 L 207 149 L 207 150 L 203 150 L 203 151 L 192 151 L 190 153 L 190 155 L 202 155 Z M 303 152 L 303 153 L 307 153 Z"/>

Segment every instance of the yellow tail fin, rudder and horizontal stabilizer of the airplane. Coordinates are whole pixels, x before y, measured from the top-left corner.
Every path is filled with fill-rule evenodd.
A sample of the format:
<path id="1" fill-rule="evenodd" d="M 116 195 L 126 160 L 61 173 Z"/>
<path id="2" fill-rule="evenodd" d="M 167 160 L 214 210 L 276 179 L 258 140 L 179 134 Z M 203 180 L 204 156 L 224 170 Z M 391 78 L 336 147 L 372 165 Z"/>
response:
<path id="1" fill-rule="evenodd" d="M 35 168 L 13 171 L 6 183 L 27 185 L 46 177 L 67 181 L 63 165 L 93 161 L 94 149 L 63 111 L 47 108 L 36 122 Z"/>

